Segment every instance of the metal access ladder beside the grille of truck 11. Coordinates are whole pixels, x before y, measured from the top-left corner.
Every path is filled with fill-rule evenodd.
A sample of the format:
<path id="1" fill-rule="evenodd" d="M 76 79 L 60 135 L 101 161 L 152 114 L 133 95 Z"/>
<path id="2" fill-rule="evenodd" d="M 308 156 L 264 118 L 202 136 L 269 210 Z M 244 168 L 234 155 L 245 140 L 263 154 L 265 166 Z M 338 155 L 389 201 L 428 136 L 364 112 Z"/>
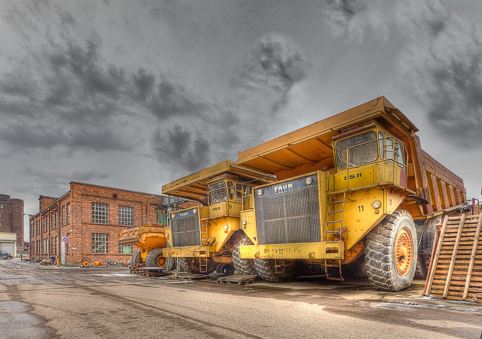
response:
<path id="1" fill-rule="evenodd" d="M 339 244 L 342 238 L 343 232 L 343 212 L 345 210 L 345 200 L 346 200 L 347 193 L 343 193 L 343 200 L 335 200 L 336 197 L 330 195 L 330 203 L 328 204 L 328 215 L 326 216 L 326 230 L 325 230 L 325 241 L 327 244 Z M 341 205 L 341 209 L 338 207 Z M 333 210 L 332 209 L 333 206 Z M 333 220 L 330 221 L 330 217 L 333 217 Z M 338 219 L 338 220 L 337 220 Z M 328 226 L 333 224 L 333 230 L 328 231 Z M 336 226 L 339 225 L 338 229 Z M 338 241 L 327 241 L 328 235 L 334 235 L 334 238 L 338 237 Z M 340 248 L 338 249 L 340 250 Z M 328 267 L 332 268 L 331 270 Z M 336 269 L 333 269 L 336 268 Z M 331 271 L 331 272 L 330 272 Z M 327 265 L 325 260 L 325 273 L 326 278 L 330 280 L 340 280 L 343 281 L 343 277 L 341 276 L 341 260 L 338 261 L 338 265 Z M 332 275 L 330 275 L 332 274 Z M 339 275 L 339 276 L 337 276 Z"/>

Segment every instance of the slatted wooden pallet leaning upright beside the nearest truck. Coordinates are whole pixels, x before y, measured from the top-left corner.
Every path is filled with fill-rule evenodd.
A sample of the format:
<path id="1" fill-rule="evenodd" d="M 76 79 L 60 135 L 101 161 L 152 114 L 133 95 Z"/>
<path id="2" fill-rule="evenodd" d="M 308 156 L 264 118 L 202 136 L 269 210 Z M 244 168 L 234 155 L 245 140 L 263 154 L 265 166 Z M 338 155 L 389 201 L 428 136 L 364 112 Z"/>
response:
<path id="1" fill-rule="evenodd" d="M 426 296 L 470 301 L 482 292 L 481 227 L 482 214 L 445 216 L 434 243 Z"/>

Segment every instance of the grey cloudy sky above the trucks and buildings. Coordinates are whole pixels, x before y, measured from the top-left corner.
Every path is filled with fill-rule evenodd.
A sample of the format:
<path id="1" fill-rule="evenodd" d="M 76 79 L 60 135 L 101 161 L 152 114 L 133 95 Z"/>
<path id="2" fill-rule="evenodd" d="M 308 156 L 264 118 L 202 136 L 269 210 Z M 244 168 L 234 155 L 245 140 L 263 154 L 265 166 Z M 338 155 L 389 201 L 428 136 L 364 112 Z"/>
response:
<path id="1" fill-rule="evenodd" d="M 0 13 L 0 193 L 26 213 L 72 180 L 160 194 L 381 95 L 480 196 L 478 1 L 5 0 Z"/>

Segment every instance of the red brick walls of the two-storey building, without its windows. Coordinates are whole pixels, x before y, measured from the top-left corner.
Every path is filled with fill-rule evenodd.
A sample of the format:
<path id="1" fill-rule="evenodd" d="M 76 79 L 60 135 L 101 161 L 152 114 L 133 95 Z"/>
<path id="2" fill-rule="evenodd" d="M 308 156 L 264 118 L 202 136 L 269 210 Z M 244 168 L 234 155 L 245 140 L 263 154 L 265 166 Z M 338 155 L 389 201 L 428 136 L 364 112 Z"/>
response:
<path id="1" fill-rule="evenodd" d="M 126 228 L 141 226 L 145 222 L 156 222 L 157 214 L 155 209 L 157 209 L 157 205 L 162 204 L 163 198 L 161 196 L 150 198 L 150 196 L 151 194 L 71 183 L 69 194 L 63 196 L 61 199 L 57 200 L 56 204 L 54 204 L 54 208 L 59 212 L 59 235 L 57 238 L 58 255 L 60 255 L 61 252 L 62 234 L 67 235 L 70 233 L 70 253 L 67 253 L 66 246 L 66 265 L 79 265 L 86 260 L 91 263 L 94 261 L 103 261 L 106 263 L 107 259 L 110 259 L 111 261 L 130 260 L 130 254 L 119 254 L 119 235 L 120 232 Z M 109 205 L 108 224 L 92 222 L 93 202 Z M 70 222 L 66 220 L 66 223 L 64 224 L 62 222 L 62 210 L 68 203 L 70 203 Z M 133 226 L 119 225 L 119 206 L 129 206 L 134 208 Z M 49 213 L 52 209 L 52 207 L 49 207 L 49 209 L 42 210 L 36 216 L 37 219 L 42 219 L 43 215 Z M 32 223 L 33 219 L 31 221 L 31 224 Z M 51 239 L 52 236 L 57 235 L 56 228 L 52 229 L 47 227 L 47 229 L 47 231 L 40 232 L 39 235 L 31 236 L 30 248 L 31 253 L 33 253 L 32 256 L 48 258 L 57 254 L 56 252 L 51 252 L 50 249 L 49 255 L 40 253 L 39 249 L 34 246 L 34 244 L 37 244 L 35 242 L 36 240 L 41 240 L 40 242 L 43 244 L 43 238 L 48 237 Z M 72 230 L 72 232 L 70 232 L 70 230 Z M 109 235 L 108 254 L 92 253 L 93 233 Z M 138 248 L 134 247 L 134 251 L 137 249 Z M 52 250 L 55 250 L 55 248 Z"/>

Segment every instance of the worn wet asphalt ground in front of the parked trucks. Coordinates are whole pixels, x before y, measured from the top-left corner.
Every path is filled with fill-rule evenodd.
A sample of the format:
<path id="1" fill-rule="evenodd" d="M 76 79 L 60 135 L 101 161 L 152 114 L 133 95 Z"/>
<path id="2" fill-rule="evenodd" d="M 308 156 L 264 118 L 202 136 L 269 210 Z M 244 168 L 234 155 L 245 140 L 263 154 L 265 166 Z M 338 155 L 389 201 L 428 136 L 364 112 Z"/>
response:
<path id="1" fill-rule="evenodd" d="M 0 260 L 0 339 L 479 339 L 482 304 L 323 277 L 246 286 Z"/>

